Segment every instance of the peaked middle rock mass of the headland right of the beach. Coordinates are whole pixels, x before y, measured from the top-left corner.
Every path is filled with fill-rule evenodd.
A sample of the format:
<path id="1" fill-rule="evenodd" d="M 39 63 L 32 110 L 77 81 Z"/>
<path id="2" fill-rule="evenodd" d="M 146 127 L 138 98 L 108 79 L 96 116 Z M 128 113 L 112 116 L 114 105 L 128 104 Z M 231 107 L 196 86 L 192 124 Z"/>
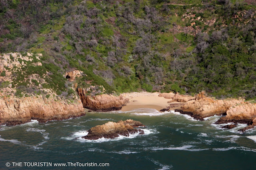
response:
<path id="1" fill-rule="evenodd" d="M 202 93 L 196 95 L 196 101 L 187 103 L 181 106 L 181 109 L 177 109 L 182 114 L 190 115 L 198 120 L 204 120 L 205 117 L 214 115 L 226 115 L 227 110 L 237 104 L 240 104 L 243 99 L 225 99 L 215 100 L 210 97 L 204 97 Z"/>

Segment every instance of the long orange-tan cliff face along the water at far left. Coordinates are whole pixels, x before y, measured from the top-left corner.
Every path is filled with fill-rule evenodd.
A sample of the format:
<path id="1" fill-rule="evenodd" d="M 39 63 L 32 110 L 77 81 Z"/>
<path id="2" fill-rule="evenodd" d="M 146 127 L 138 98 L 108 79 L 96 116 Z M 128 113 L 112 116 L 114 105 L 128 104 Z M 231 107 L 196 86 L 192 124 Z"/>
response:
<path id="1" fill-rule="evenodd" d="M 36 119 L 40 123 L 85 115 L 79 99 L 74 103 L 42 97 L 0 99 L 0 125 L 19 125 Z"/>

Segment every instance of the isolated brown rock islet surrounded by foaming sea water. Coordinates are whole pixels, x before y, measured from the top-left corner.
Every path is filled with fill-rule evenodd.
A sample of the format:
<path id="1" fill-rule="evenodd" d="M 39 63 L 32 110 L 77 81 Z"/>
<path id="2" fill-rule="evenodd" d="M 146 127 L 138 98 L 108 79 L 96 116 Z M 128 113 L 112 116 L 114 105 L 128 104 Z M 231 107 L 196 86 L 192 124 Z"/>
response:
<path id="1" fill-rule="evenodd" d="M 84 139 L 96 140 L 99 138 L 116 138 L 120 135 L 129 136 L 130 134 L 138 133 L 144 134 L 143 130 L 135 129 L 134 127 L 144 126 L 138 121 L 131 119 L 126 121 L 108 122 L 104 125 L 98 125 L 88 130 L 88 134 L 83 136 Z"/>

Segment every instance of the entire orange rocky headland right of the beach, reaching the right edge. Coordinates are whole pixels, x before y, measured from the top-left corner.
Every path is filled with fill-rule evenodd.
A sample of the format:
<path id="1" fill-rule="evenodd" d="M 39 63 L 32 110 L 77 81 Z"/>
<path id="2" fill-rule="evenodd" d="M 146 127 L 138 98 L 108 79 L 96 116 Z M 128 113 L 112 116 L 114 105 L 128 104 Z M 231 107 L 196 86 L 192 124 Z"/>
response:
<path id="1" fill-rule="evenodd" d="M 162 111 L 180 105 L 180 109 L 175 109 L 175 111 L 190 115 L 194 119 L 204 121 L 206 117 L 219 115 L 223 117 L 221 117 L 216 124 L 232 123 L 222 126 L 222 128 L 230 129 L 236 127 L 237 123 L 246 123 L 248 127 L 240 129 L 244 132 L 256 126 L 256 104 L 244 102 L 242 98 L 217 100 L 212 97 L 206 97 L 204 91 L 194 97 L 179 94 L 173 95 L 173 93 L 162 94 L 162 96 L 172 99 L 169 102 L 170 107 Z M 172 103 L 172 101 L 180 101 L 180 104 Z"/>

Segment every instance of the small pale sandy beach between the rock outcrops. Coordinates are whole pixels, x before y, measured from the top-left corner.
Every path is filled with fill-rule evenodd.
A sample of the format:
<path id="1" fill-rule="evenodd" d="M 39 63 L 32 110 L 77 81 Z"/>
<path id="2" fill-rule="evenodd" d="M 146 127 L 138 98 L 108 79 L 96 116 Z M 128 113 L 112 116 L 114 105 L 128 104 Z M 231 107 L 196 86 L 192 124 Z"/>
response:
<path id="1" fill-rule="evenodd" d="M 169 106 L 168 101 L 172 99 L 165 99 L 159 97 L 159 93 L 148 93 L 148 92 L 132 92 L 123 93 L 124 98 L 128 98 L 130 102 L 122 107 L 122 111 L 131 111 L 138 108 L 152 108 L 160 111 Z M 176 108 L 175 108 L 176 109 Z"/>

